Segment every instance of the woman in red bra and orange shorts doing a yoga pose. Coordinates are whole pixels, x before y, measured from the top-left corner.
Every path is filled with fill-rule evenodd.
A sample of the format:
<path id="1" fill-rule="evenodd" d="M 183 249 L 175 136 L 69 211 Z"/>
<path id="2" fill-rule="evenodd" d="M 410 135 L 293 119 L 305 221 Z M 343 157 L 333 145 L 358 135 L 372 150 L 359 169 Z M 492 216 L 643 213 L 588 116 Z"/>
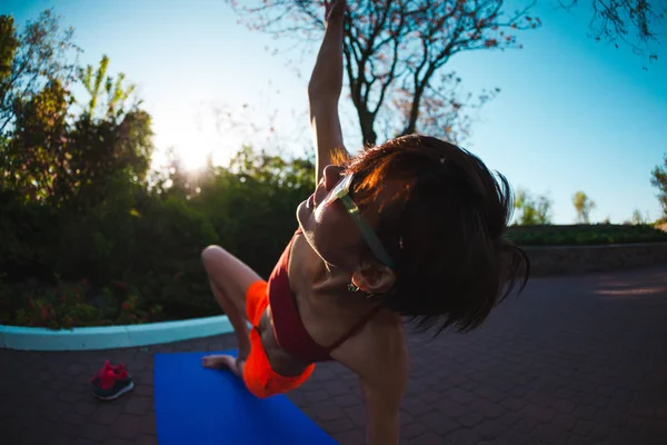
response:
<path id="1" fill-rule="evenodd" d="M 325 6 L 308 88 L 316 190 L 299 205 L 299 229 L 268 281 L 218 246 L 202 253 L 239 344 L 238 358 L 207 356 L 203 366 L 228 368 L 268 397 L 301 385 L 315 363 L 337 360 L 359 377 L 368 443 L 396 444 L 408 378 L 402 316 L 422 328 L 471 329 L 528 261 L 502 239 L 509 186 L 477 157 L 425 136 L 345 151 L 346 3 Z"/>

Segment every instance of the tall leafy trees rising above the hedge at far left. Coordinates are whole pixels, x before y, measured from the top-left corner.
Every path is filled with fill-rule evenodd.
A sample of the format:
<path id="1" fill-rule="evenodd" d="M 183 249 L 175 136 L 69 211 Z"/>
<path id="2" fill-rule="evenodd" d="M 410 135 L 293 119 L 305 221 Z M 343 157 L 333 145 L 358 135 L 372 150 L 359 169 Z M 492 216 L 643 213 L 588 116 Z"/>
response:
<path id="1" fill-rule="evenodd" d="M 59 29 L 49 13 L 40 20 L 33 27 L 41 33 Z M 66 44 L 54 36 L 41 33 L 41 40 L 37 40 L 42 47 Z M 20 41 L 16 57 L 30 53 L 38 43 Z M 26 44 L 28 49 L 23 48 Z M 129 108 L 126 105 L 133 87 L 123 83 L 122 73 L 116 80 L 107 76 L 109 59 L 103 57 L 97 70 L 88 66 L 78 70 L 78 78 L 69 79 L 81 81 L 91 95 L 83 112 L 76 115 L 76 98 L 60 78 L 64 65 L 51 61 L 52 56 L 48 51 L 37 59 L 24 56 L 33 66 L 47 70 L 41 89 L 36 89 L 39 77 L 21 80 L 26 72 L 21 67 L 12 68 L 18 71 L 12 75 L 18 79 L 12 81 L 12 88 L 23 83 L 29 88 L 11 99 L 12 125 L 0 138 L 0 186 L 19 192 L 27 201 L 54 206 L 68 202 L 82 209 L 103 200 L 115 181 L 142 184 L 152 154 L 152 132 L 150 117 L 139 103 Z M 16 67 L 17 60 L 11 65 Z M 107 96 L 100 102 L 102 80 Z M 103 109 L 101 116 L 96 113 L 98 103 Z"/>

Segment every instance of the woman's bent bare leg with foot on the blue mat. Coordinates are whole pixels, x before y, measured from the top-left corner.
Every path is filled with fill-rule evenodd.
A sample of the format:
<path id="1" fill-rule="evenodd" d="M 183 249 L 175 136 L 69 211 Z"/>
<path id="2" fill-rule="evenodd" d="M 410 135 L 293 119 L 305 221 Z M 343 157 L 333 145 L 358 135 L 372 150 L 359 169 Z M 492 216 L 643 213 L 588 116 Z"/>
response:
<path id="1" fill-rule="evenodd" d="M 246 264 L 218 246 L 208 247 L 201 254 L 203 266 L 216 300 L 227 314 L 239 345 L 239 359 L 227 355 L 210 355 L 201 363 L 209 368 L 228 368 L 242 375 L 242 364 L 250 354 L 250 339 L 246 319 L 246 293 L 248 287 L 261 279 Z"/>

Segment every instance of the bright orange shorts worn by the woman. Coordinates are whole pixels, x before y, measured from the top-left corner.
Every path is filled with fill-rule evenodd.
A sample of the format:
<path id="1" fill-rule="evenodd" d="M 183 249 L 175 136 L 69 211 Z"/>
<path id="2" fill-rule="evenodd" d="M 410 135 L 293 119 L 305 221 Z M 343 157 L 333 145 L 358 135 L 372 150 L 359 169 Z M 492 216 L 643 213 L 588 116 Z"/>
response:
<path id="1" fill-rule="evenodd" d="M 250 393 L 259 398 L 298 388 L 310 377 L 315 369 L 315 364 L 311 364 L 301 375 L 290 377 L 276 374 L 271 369 L 259 332 L 255 328 L 259 326 L 259 319 L 268 305 L 267 281 L 259 280 L 251 284 L 246 294 L 246 315 L 252 324 L 252 329 L 250 329 L 250 355 L 243 366 L 243 382 Z"/>

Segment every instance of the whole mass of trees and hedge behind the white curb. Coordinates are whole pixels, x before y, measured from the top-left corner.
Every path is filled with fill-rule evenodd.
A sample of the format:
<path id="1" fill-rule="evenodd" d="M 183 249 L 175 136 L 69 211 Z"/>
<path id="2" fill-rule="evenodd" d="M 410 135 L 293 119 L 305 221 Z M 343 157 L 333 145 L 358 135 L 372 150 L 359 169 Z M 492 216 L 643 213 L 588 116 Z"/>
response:
<path id="1" fill-rule="evenodd" d="M 0 81 L 33 44 L 2 20 L 0 37 L 16 48 L 0 52 Z M 47 32 L 40 44 L 58 41 L 54 18 L 40 20 L 30 24 Z M 29 60 L 43 67 L 50 57 Z M 231 168 L 199 177 L 178 162 L 149 175 L 150 116 L 109 67 L 104 56 L 74 70 L 69 86 L 82 87 L 83 100 L 57 70 L 22 80 L 31 88 L 12 99 L 0 139 L 0 323 L 70 328 L 217 314 L 201 250 L 222 244 L 268 275 L 315 187 L 311 161 L 250 147 Z"/>

